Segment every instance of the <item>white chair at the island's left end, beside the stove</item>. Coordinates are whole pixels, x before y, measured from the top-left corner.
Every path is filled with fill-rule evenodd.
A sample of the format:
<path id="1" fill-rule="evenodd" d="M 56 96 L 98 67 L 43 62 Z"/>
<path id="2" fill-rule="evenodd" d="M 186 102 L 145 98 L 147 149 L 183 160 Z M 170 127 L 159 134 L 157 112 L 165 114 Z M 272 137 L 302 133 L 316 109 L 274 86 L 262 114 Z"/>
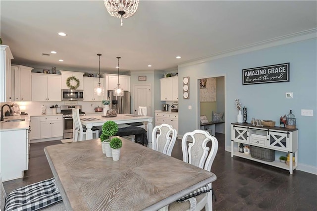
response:
<path id="1" fill-rule="evenodd" d="M 73 127 L 74 128 L 74 142 L 86 140 L 87 128 L 83 126 L 80 122 L 78 108 L 73 108 L 73 121 L 74 121 L 74 127 Z M 93 137 L 95 135 L 95 138 L 98 139 L 99 129 L 97 127 L 92 127 L 92 131 L 93 131 Z"/>

